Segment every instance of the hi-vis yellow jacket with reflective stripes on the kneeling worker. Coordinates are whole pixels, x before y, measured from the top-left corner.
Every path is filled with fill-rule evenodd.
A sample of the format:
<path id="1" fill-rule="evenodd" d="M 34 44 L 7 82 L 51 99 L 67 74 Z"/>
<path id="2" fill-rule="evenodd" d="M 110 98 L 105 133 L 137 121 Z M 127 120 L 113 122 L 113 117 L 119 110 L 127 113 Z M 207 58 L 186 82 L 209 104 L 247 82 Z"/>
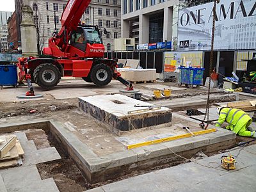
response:
<path id="1" fill-rule="evenodd" d="M 252 124 L 252 118 L 240 109 L 223 108 L 215 126 L 220 127 L 224 122 L 227 122 L 237 134 L 244 125 L 249 127 Z"/>

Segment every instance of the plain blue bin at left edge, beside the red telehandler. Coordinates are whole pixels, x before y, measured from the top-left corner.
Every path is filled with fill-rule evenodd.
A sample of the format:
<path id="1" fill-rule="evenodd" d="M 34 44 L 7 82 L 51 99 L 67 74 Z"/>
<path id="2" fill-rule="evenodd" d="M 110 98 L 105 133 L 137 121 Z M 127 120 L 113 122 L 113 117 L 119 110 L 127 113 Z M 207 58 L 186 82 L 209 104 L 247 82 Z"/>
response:
<path id="1" fill-rule="evenodd" d="M 18 81 L 16 65 L 0 65 L 0 86 L 16 86 Z"/>

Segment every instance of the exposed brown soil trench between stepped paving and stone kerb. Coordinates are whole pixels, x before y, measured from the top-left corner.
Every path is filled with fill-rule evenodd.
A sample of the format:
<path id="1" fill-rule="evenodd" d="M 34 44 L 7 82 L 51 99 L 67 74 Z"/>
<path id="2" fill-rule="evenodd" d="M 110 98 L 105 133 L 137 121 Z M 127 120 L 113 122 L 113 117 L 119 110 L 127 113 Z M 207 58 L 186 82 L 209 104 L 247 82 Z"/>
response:
<path id="1" fill-rule="evenodd" d="M 60 160 L 54 162 L 36 164 L 42 179 L 52 177 L 61 192 L 79 192 L 90 188 L 74 161 L 51 134 L 45 134 L 42 129 L 31 129 L 26 131 L 26 136 L 34 141 L 36 148 L 55 147 L 61 156 Z"/>

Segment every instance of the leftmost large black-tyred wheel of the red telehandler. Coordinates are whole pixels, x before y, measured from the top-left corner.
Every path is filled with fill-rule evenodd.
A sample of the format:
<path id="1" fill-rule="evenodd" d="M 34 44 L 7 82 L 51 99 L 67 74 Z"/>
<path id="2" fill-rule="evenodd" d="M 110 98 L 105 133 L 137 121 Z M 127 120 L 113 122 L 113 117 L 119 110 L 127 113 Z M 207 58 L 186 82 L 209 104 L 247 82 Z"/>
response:
<path id="1" fill-rule="evenodd" d="M 52 88 L 60 82 L 60 70 L 51 63 L 38 65 L 34 71 L 35 83 L 42 88 Z"/>

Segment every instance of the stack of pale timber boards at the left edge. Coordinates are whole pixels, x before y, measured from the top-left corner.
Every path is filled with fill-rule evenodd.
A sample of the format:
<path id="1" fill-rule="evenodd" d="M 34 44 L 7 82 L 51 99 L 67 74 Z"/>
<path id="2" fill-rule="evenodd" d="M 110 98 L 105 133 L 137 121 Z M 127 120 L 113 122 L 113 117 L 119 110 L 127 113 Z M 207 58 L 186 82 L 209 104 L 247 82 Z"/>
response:
<path id="1" fill-rule="evenodd" d="M 20 166 L 22 164 L 23 155 L 24 150 L 19 140 L 17 140 L 17 136 L 0 136 L 0 168 Z"/>

